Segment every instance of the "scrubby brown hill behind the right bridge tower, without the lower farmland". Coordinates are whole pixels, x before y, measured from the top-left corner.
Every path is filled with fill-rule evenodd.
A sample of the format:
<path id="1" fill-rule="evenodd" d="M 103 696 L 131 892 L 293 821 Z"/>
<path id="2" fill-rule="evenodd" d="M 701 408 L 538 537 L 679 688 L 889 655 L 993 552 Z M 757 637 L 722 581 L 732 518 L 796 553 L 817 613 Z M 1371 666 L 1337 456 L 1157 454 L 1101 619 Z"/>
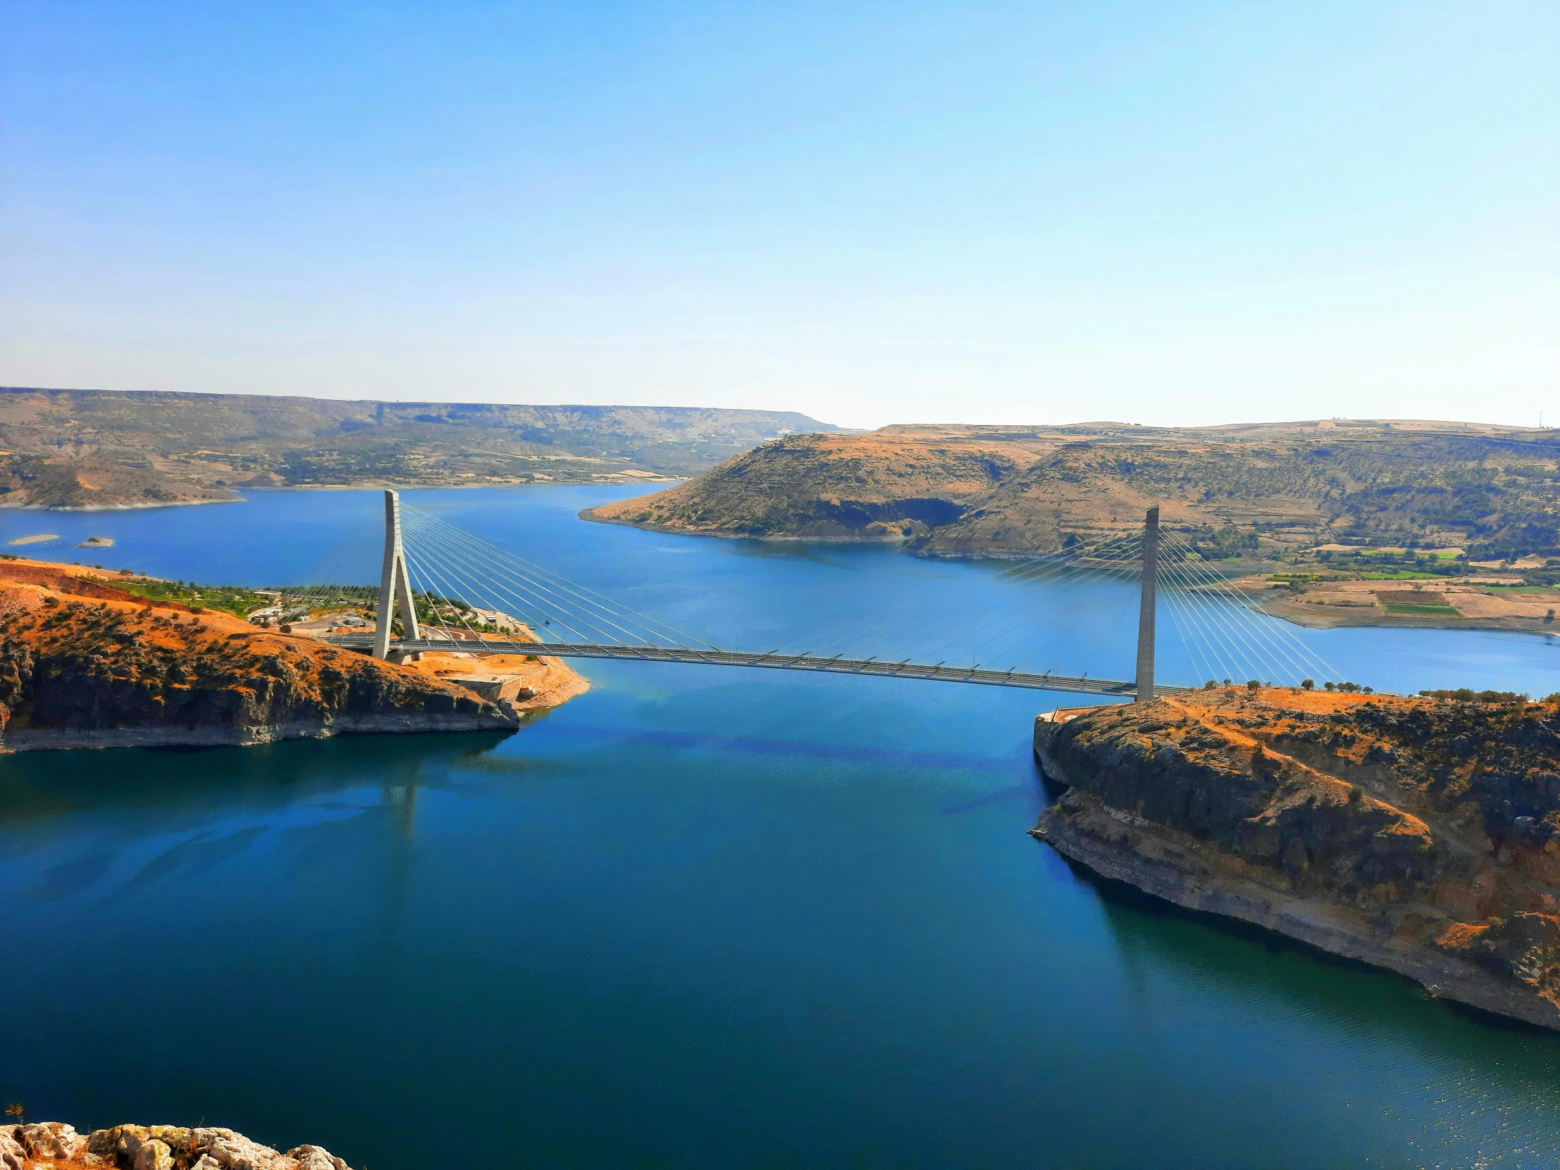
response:
<path id="1" fill-rule="evenodd" d="M 791 435 L 594 509 L 675 532 L 1011 557 L 1164 523 L 1220 557 L 1329 540 L 1560 551 L 1560 435 L 1416 421 L 1200 429 L 892 426 Z"/>

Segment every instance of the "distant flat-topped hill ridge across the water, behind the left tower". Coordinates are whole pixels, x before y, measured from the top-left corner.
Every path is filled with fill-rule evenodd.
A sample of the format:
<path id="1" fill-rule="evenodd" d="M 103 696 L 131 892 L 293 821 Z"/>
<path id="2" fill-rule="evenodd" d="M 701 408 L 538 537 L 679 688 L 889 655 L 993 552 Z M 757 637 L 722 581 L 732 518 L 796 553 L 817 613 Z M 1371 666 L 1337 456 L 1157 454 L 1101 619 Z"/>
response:
<path id="1" fill-rule="evenodd" d="M 655 480 L 833 429 L 786 410 L 0 387 L 0 507 L 151 507 L 236 499 L 242 487 Z"/>

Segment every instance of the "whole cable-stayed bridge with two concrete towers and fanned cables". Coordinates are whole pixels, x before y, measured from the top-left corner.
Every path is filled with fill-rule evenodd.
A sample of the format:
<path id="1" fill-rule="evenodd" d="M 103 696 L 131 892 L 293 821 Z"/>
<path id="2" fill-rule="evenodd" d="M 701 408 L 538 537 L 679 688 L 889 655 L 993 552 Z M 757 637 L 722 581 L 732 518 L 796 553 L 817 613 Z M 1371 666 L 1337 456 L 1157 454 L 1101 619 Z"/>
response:
<path id="1" fill-rule="evenodd" d="M 1026 646 L 1036 615 L 1014 605 L 1003 587 L 1089 582 L 1115 585 L 1136 579 L 1137 657 L 1131 680 L 1090 677 L 1059 669 L 1002 666 L 1002 657 Z M 991 594 L 991 596 L 986 596 Z M 749 669 L 858 674 L 883 679 L 958 682 L 984 686 L 1064 691 L 1147 699 L 1197 685 L 1154 677 L 1161 607 L 1181 636 L 1187 660 L 1207 680 L 1246 679 L 1299 682 L 1328 677 L 1328 665 L 1289 630 L 1232 588 L 1217 566 L 1178 534 L 1159 527 L 1150 509 L 1143 527 L 1089 548 L 1009 565 L 981 596 L 961 601 L 938 630 L 948 633 L 911 647 L 902 657 L 864 654 L 878 633 L 905 626 L 905 615 L 886 610 L 870 622 L 822 632 L 802 646 L 741 651 L 719 647 L 646 613 L 632 610 L 476 534 L 404 505 L 385 491 L 384 557 L 379 588 L 321 587 L 295 599 L 307 612 L 374 605 L 373 627 L 337 632 L 326 640 L 379 658 L 448 652 L 463 655 L 523 654 L 558 658 L 671 661 Z M 924 608 L 924 602 L 922 602 Z M 1123 615 L 1125 616 L 1125 615 Z M 1122 622 L 1123 632 L 1131 627 Z M 1016 633 L 1016 630 L 1019 633 Z M 860 649 L 858 649 L 860 647 Z M 905 646 L 899 646 L 903 651 Z M 939 657 L 941 655 L 941 657 Z"/>

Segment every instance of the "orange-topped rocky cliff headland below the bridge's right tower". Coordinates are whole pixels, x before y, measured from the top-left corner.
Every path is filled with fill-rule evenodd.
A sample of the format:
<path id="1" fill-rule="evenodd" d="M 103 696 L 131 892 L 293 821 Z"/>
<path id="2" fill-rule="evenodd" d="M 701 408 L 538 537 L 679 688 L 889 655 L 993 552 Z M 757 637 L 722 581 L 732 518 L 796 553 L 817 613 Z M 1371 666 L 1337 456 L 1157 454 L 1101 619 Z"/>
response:
<path id="1" fill-rule="evenodd" d="M 1560 1028 L 1560 710 L 1226 688 L 1034 747 L 1073 860 Z"/>

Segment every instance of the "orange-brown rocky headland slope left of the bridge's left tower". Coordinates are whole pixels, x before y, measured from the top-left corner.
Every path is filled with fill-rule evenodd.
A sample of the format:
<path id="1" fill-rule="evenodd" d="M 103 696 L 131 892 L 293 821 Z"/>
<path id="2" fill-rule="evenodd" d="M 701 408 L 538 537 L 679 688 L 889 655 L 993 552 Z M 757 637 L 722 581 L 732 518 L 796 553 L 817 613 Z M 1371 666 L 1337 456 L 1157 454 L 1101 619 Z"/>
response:
<path id="1" fill-rule="evenodd" d="M 518 725 L 429 671 L 151 605 L 111 580 L 0 562 L 0 750 Z"/>

